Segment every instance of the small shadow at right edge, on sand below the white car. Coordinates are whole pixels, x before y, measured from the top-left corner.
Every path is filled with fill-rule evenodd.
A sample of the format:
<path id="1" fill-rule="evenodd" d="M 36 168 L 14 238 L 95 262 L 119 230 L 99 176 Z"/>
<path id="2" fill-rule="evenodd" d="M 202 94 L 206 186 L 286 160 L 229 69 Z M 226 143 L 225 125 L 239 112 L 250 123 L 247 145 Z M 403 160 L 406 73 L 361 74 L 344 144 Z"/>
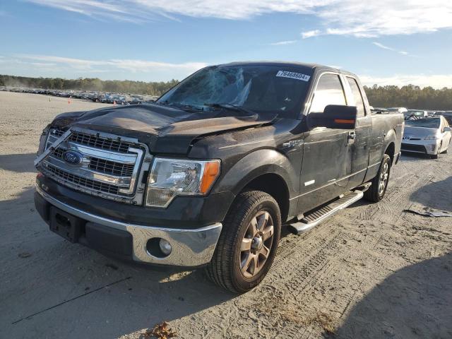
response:
<path id="1" fill-rule="evenodd" d="M 420 187 L 411 194 L 410 201 L 436 210 L 452 212 L 452 191 L 448 191 L 446 187 L 452 187 L 452 177 Z"/>

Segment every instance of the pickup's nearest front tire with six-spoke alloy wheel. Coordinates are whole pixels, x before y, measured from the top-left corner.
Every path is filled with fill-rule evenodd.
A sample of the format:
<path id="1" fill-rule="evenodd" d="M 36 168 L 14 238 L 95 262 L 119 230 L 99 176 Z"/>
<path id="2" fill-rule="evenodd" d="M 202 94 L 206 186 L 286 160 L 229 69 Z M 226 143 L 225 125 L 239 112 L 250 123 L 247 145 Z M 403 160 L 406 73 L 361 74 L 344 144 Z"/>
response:
<path id="1" fill-rule="evenodd" d="M 237 196 L 206 272 L 214 283 L 235 293 L 256 287 L 268 273 L 280 240 L 281 213 L 262 191 Z"/>

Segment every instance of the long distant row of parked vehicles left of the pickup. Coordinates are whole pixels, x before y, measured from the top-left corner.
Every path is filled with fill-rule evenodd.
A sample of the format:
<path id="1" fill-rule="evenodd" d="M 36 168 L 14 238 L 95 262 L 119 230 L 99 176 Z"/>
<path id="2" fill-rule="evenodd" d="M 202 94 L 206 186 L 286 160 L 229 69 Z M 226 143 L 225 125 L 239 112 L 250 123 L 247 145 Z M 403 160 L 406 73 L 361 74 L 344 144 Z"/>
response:
<path id="1" fill-rule="evenodd" d="M 48 90 L 42 88 L 8 87 L 0 86 L 0 90 L 17 93 L 32 93 L 42 95 L 52 95 L 55 97 L 73 97 L 76 99 L 90 100 L 117 105 L 133 105 L 144 102 L 154 102 L 157 97 L 153 95 L 137 95 L 124 93 L 107 93 L 97 90 Z"/>

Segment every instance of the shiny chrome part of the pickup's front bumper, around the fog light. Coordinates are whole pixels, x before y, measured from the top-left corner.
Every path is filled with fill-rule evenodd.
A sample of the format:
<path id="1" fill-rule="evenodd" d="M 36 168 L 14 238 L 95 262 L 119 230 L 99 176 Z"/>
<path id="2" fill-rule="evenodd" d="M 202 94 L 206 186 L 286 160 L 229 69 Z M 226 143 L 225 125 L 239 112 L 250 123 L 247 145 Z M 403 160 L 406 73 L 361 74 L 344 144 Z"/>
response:
<path id="1" fill-rule="evenodd" d="M 89 222 L 129 232 L 133 238 L 133 261 L 174 266 L 201 266 L 210 262 L 220 237 L 222 228 L 220 222 L 194 230 L 133 225 L 73 208 L 49 196 L 39 186 L 36 186 L 36 191 L 52 206 L 66 213 Z M 171 244 L 172 252 L 169 256 L 157 258 L 148 253 L 146 244 L 149 239 L 155 237 L 166 239 Z"/>

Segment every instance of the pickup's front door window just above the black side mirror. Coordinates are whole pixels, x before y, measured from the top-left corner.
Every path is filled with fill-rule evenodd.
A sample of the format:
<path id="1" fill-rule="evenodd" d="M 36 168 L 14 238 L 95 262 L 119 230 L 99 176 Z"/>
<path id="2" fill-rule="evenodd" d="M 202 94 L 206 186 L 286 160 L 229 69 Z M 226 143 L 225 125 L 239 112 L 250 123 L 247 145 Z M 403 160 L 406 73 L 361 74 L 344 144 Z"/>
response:
<path id="1" fill-rule="evenodd" d="M 321 76 L 309 112 L 323 113 L 328 105 L 346 105 L 344 90 L 336 74 Z"/>

